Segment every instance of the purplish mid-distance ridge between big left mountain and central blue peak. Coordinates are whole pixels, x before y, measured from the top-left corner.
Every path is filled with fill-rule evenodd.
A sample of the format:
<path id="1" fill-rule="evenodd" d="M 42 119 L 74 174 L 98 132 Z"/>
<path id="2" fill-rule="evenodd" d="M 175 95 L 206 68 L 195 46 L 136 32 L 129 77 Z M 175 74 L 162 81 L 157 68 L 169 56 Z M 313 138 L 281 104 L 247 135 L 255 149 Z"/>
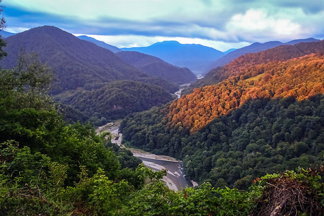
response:
<path id="1" fill-rule="evenodd" d="M 151 76 L 157 76 L 176 84 L 184 84 L 197 80 L 188 68 L 171 65 L 154 56 L 136 51 L 122 51 L 116 53 L 116 55 Z"/>

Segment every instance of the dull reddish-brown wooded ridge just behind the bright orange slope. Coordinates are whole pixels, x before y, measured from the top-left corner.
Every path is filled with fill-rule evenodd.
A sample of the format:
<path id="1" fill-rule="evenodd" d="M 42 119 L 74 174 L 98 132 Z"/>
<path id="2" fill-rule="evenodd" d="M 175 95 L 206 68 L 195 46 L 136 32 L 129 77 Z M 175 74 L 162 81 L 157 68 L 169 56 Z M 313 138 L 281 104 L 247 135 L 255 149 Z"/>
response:
<path id="1" fill-rule="evenodd" d="M 192 92 L 193 88 L 217 84 L 230 76 L 245 73 L 247 71 L 246 69 L 250 66 L 266 64 L 272 61 L 286 61 L 311 53 L 322 52 L 323 50 L 324 41 L 319 41 L 283 45 L 257 53 L 249 53 L 231 61 L 227 65 L 209 71 L 203 79 L 193 83 L 184 93 L 189 94 Z"/>

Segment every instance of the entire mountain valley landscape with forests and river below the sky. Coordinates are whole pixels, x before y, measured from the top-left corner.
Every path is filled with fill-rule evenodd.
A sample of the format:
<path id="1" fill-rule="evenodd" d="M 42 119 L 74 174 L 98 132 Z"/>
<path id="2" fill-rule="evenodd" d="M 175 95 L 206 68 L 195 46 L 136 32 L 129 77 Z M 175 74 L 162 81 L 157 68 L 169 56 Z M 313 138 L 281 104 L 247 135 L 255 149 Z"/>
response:
<path id="1" fill-rule="evenodd" d="M 5 39 L 0 214 L 324 212 L 324 41 L 225 53 L 80 38 Z"/>

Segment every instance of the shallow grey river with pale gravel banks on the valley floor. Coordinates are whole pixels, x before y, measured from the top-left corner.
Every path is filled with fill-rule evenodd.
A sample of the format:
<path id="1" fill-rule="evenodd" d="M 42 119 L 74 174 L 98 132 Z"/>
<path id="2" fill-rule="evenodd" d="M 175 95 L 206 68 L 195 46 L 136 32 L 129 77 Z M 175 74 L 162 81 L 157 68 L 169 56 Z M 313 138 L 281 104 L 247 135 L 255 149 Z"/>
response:
<path id="1" fill-rule="evenodd" d="M 112 142 L 117 143 L 117 145 L 124 148 L 121 145 L 122 134 L 118 134 L 118 129 L 119 127 L 114 127 L 109 130 L 115 136 L 118 135 L 118 139 L 113 139 Z M 193 187 L 197 185 L 197 183 L 190 181 L 186 177 L 181 160 L 177 160 L 166 155 L 151 154 L 149 152 L 138 149 L 130 148 L 130 150 L 135 157 L 143 161 L 143 164 L 146 167 L 152 168 L 155 171 L 167 169 L 167 175 L 164 176 L 162 180 L 170 189 L 179 191 L 182 188 Z"/>

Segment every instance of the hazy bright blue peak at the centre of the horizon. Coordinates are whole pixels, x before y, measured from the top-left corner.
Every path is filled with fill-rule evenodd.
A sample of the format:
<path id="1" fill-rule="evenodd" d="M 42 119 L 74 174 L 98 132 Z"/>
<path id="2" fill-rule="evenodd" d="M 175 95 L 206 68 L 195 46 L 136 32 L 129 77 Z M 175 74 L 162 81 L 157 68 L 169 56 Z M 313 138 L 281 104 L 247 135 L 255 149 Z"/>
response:
<path id="1" fill-rule="evenodd" d="M 147 47 L 121 48 L 123 51 L 138 51 L 155 56 L 179 67 L 188 67 L 194 74 L 201 74 L 202 68 L 221 57 L 224 53 L 200 44 L 181 44 L 177 41 L 163 41 Z"/>

